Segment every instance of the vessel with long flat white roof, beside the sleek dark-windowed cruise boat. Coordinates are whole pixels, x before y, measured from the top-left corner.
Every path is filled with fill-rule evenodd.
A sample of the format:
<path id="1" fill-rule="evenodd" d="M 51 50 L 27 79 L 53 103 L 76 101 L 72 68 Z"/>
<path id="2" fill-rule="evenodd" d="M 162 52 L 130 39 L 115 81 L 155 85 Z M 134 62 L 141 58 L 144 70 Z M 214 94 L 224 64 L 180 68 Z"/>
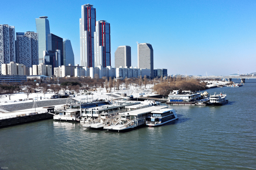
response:
<path id="1" fill-rule="evenodd" d="M 142 109 L 125 112 L 121 115 L 121 119 L 104 126 L 104 129 L 110 131 L 125 132 L 138 128 L 146 124 L 148 114 L 155 110 L 167 108 L 167 106 L 150 106 Z"/>

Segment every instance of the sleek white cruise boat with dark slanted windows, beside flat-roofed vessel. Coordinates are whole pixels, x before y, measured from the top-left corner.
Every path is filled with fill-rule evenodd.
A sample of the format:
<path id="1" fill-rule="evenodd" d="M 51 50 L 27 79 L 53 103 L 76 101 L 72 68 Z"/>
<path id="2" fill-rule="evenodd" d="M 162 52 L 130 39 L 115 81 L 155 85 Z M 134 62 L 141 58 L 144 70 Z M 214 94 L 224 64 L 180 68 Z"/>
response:
<path id="1" fill-rule="evenodd" d="M 161 126 L 178 119 L 174 109 L 159 109 L 148 114 L 146 126 Z"/>

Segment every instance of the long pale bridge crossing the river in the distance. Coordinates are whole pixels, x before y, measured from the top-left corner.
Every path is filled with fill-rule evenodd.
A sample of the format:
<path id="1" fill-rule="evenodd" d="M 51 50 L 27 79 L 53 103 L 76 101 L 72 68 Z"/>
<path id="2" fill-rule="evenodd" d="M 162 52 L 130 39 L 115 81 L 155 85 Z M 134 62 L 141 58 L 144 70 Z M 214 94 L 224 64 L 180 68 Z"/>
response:
<path id="1" fill-rule="evenodd" d="M 227 79 L 232 81 L 232 79 L 241 79 L 241 83 L 245 82 L 245 79 L 256 79 L 256 76 L 240 76 L 240 75 L 230 75 L 230 76 L 192 76 L 192 79 Z"/>

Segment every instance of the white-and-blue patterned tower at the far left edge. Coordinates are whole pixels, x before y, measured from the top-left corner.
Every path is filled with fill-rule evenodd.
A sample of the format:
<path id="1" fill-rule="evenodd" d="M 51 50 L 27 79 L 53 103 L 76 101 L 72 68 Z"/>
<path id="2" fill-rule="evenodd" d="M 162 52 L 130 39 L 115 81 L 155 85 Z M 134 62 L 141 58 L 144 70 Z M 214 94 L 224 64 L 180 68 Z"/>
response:
<path id="1" fill-rule="evenodd" d="M 15 28 L 9 25 L 0 25 L 0 65 L 16 62 L 15 55 Z M 1 67 L 0 67 L 1 73 Z"/>

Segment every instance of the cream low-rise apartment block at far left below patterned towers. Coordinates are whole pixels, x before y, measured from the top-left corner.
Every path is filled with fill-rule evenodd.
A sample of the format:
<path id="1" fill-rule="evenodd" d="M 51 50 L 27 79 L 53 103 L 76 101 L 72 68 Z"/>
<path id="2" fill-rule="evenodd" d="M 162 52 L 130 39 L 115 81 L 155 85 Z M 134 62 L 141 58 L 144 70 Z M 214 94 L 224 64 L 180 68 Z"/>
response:
<path id="1" fill-rule="evenodd" d="M 2 64 L 1 66 L 2 75 L 26 75 L 26 66 L 23 64 L 12 61 L 9 64 Z"/>

